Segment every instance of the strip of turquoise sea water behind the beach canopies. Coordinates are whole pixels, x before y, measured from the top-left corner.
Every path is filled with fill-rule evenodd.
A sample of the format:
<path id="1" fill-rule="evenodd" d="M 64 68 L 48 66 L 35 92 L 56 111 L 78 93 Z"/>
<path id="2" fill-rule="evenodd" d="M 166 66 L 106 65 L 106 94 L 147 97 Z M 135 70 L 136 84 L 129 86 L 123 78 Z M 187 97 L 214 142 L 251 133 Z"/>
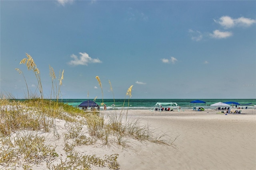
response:
<path id="1" fill-rule="evenodd" d="M 72 105 L 73 107 L 78 107 L 80 103 L 83 101 L 86 101 L 88 99 L 62 99 L 63 103 L 68 103 L 68 105 Z M 93 99 L 90 99 L 93 101 Z M 108 110 L 116 110 L 116 109 L 151 109 L 154 107 L 154 105 L 157 102 L 172 102 L 177 103 L 182 109 L 193 109 L 195 106 L 194 103 L 190 103 L 190 101 L 194 101 L 197 99 L 130 99 L 129 105 L 128 105 L 128 99 L 115 99 L 115 102 L 113 99 L 104 99 L 103 103 L 106 104 Z M 200 99 L 202 101 L 205 101 L 205 103 L 196 103 L 196 107 L 204 107 L 205 109 L 210 109 L 214 107 L 210 107 L 210 105 L 217 103 L 217 102 L 228 102 L 228 101 L 234 101 L 238 102 L 240 104 L 247 104 L 252 103 L 248 106 L 248 109 L 255 108 L 254 105 L 256 105 L 256 99 Z M 102 100 L 96 99 L 95 101 L 98 105 L 102 103 Z M 112 106 L 112 104 L 115 103 L 115 106 Z M 244 106 L 245 107 L 245 106 Z"/>

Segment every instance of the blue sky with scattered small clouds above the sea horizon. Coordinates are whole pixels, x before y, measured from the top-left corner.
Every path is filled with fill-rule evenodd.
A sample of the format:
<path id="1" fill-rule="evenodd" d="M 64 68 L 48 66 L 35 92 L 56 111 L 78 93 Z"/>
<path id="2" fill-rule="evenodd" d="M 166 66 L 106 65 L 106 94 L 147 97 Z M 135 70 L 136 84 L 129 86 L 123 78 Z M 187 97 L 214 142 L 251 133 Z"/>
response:
<path id="1" fill-rule="evenodd" d="M 256 99 L 256 1 L 0 0 L 2 95 L 39 94 L 26 53 L 44 98 L 52 67 L 62 99 Z"/>

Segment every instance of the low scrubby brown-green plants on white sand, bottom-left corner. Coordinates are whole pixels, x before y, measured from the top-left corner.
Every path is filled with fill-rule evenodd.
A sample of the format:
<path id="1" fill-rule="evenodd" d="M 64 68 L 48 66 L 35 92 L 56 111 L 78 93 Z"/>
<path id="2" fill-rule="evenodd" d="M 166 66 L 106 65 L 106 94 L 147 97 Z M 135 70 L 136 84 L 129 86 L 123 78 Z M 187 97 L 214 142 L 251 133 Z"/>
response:
<path id="1" fill-rule="evenodd" d="M 0 164 L 36 163 L 51 160 L 58 156 L 55 147 L 46 144 L 45 136 L 35 131 L 19 131 L 17 134 L 1 139 Z"/>

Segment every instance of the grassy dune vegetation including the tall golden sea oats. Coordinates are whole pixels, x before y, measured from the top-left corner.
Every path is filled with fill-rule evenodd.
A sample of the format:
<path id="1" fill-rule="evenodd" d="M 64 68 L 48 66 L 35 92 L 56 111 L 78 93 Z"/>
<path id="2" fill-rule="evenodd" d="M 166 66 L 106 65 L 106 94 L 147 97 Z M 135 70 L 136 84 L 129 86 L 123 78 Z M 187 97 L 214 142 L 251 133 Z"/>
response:
<path id="1" fill-rule="evenodd" d="M 57 79 L 54 69 L 49 66 L 52 91 L 50 99 L 44 99 L 40 70 L 34 59 L 29 54 L 26 56 L 27 58 L 22 59 L 20 64 L 25 64 L 28 70 L 34 73 L 37 91 L 29 91 L 23 72 L 16 69 L 26 83 L 26 100 L 20 101 L 12 99 L 11 95 L 1 94 L 1 168 L 30 170 L 35 165 L 47 162 L 47 168 L 50 170 L 86 170 L 95 166 L 119 169 L 118 154 L 102 157 L 81 153 L 76 147 L 118 145 L 126 148 L 132 147 L 134 141 L 139 141 L 136 144 L 144 141 L 166 145 L 171 145 L 175 141 L 166 133 L 150 129 L 150 125 L 142 125 L 140 119 L 130 119 L 128 109 L 108 113 L 101 110 L 83 111 L 60 102 L 64 70 L 60 71 Z M 96 76 L 96 79 L 102 90 L 100 78 Z M 132 97 L 132 87 L 131 85 L 128 88 L 125 95 L 128 99 L 124 101 L 129 102 Z M 113 92 L 111 83 L 110 89 Z M 59 122 L 64 122 L 64 130 L 60 130 Z M 61 153 L 58 152 L 60 148 L 56 149 L 60 147 L 56 144 L 58 142 L 63 142 Z"/>

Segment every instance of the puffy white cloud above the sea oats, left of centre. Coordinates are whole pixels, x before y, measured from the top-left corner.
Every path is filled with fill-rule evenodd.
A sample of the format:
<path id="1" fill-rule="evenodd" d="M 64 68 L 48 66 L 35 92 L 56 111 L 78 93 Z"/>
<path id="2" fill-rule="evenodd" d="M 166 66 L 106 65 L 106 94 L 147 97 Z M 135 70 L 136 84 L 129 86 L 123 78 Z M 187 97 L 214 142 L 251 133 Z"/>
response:
<path id="1" fill-rule="evenodd" d="M 90 57 L 87 53 L 79 53 L 80 59 L 74 54 L 72 54 L 70 57 L 72 57 L 74 60 L 71 60 L 68 62 L 69 65 L 88 65 L 88 63 L 102 63 L 100 59 L 94 59 Z"/>

